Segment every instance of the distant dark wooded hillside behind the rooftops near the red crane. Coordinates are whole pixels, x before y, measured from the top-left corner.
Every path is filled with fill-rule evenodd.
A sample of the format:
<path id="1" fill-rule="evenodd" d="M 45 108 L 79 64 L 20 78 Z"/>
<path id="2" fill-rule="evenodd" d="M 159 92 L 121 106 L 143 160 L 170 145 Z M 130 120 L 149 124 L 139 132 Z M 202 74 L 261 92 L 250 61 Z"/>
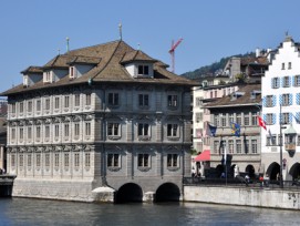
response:
<path id="1" fill-rule="evenodd" d="M 195 79 L 198 79 L 201 76 L 217 74 L 218 72 L 223 71 L 227 61 L 232 56 L 237 56 L 237 58 L 255 56 L 255 53 L 250 52 L 250 53 L 245 53 L 245 54 L 237 54 L 237 55 L 231 55 L 231 56 L 227 56 L 227 58 L 221 58 L 218 62 L 211 63 L 210 65 L 201 66 L 199 69 L 196 69 L 195 71 L 186 72 L 182 75 L 185 78 L 195 80 Z"/>

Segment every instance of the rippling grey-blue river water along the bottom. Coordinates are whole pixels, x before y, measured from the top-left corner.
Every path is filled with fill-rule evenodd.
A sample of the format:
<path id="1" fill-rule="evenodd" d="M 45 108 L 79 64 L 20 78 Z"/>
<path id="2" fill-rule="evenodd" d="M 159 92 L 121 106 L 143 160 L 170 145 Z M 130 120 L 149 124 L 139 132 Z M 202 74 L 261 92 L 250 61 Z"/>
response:
<path id="1" fill-rule="evenodd" d="M 199 203 L 91 204 L 1 198 L 0 225 L 299 225 L 300 213 Z"/>

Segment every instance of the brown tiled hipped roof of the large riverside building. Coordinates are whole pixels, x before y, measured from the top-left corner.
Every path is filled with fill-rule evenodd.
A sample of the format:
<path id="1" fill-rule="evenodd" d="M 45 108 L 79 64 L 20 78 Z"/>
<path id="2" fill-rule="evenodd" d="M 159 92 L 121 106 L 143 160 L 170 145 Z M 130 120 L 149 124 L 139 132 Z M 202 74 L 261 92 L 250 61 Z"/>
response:
<path id="1" fill-rule="evenodd" d="M 31 86 L 23 86 L 22 84 L 14 86 L 0 95 L 9 95 L 13 93 L 21 93 L 31 90 L 45 89 L 45 88 L 56 88 L 62 85 L 72 85 L 79 83 L 86 83 L 89 80 L 93 82 L 127 82 L 127 83 L 161 83 L 161 84 L 180 84 L 193 86 L 197 85 L 192 80 L 184 76 L 178 76 L 169 71 L 167 71 L 166 64 L 161 61 L 156 61 L 143 53 L 142 51 L 136 51 L 124 41 L 113 41 L 105 44 L 99 44 L 87 48 L 82 48 L 77 50 L 70 51 L 62 55 L 56 55 L 51 61 L 49 61 L 43 68 L 68 68 L 72 60 L 80 58 L 80 61 L 86 60 L 86 62 L 94 62 L 99 60 L 99 63 L 89 72 L 80 78 L 70 80 L 69 75 L 62 78 L 54 83 L 43 83 L 43 81 L 37 82 Z M 90 61 L 91 60 L 91 61 Z M 134 79 L 125 70 L 121 62 L 126 62 L 130 60 L 137 61 L 151 61 L 154 63 L 154 78 L 149 79 Z"/>

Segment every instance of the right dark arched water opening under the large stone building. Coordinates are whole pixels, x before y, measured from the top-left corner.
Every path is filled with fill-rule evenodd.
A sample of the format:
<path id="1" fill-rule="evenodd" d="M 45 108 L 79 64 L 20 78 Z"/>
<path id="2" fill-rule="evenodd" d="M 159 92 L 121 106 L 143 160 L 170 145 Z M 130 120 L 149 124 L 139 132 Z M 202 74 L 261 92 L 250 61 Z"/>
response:
<path id="1" fill-rule="evenodd" d="M 173 183 L 166 183 L 157 188 L 155 202 L 179 202 L 179 187 Z"/>

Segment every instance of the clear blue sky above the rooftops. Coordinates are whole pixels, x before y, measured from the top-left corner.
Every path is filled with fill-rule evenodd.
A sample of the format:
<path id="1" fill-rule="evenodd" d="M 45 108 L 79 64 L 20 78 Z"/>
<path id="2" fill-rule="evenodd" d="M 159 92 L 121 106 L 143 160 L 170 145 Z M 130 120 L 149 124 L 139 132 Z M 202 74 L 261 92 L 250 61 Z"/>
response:
<path id="1" fill-rule="evenodd" d="M 223 56 L 275 49 L 288 31 L 300 41 L 299 0 L 10 0 L 0 4 L 0 92 L 20 84 L 20 72 L 44 65 L 70 49 L 118 39 L 152 58 L 170 64 L 172 40 L 175 72 L 214 63 Z"/>

